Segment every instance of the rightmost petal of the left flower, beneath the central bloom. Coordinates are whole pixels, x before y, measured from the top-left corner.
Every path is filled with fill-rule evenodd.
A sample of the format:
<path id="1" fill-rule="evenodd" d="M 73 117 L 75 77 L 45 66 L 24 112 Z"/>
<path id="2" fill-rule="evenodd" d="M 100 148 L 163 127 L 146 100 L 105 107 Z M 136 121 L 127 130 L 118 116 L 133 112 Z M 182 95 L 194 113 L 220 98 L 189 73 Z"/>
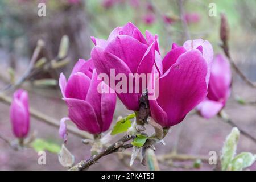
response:
<path id="1" fill-rule="evenodd" d="M 105 84 L 105 83 L 101 82 L 101 84 Z M 102 132 L 108 130 L 110 124 L 112 123 L 116 101 L 117 101 L 117 96 L 114 93 L 101 94 L 101 119 L 102 119 L 101 131 Z"/>

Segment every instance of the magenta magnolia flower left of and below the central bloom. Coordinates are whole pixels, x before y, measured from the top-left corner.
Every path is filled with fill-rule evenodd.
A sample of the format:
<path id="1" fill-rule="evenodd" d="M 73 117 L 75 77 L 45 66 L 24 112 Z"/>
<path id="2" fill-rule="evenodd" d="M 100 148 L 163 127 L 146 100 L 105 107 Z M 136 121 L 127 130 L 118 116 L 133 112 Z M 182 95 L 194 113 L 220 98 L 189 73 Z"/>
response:
<path id="1" fill-rule="evenodd" d="M 80 59 L 71 75 L 66 80 L 60 74 L 59 85 L 63 100 L 68 105 L 68 116 L 80 130 L 91 134 L 99 134 L 109 129 L 113 119 L 116 96 L 113 93 L 100 93 L 98 86 L 106 86 L 98 80 L 96 70 L 91 59 Z M 64 139 L 65 120 L 61 120 L 60 135 Z"/>

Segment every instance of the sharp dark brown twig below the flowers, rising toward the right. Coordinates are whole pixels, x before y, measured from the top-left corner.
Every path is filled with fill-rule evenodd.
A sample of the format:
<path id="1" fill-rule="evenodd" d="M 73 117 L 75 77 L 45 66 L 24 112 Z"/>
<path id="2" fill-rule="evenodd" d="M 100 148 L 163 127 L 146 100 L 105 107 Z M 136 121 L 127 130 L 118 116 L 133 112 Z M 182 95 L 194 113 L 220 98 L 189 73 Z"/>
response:
<path id="1" fill-rule="evenodd" d="M 131 136 L 126 134 L 121 139 L 119 139 L 117 142 L 110 145 L 106 150 L 101 151 L 99 154 L 92 156 L 92 158 L 88 160 L 82 160 L 80 163 L 73 166 L 70 171 L 82 171 L 85 169 L 88 169 L 90 166 L 95 164 L 100 158 L 103 156 L 112 154 L 114 152 L 123 151 L 127 148 L 133 147 L 132 144 L 124 144 L 125 142 L 129 141 L 131 139 Z"/>

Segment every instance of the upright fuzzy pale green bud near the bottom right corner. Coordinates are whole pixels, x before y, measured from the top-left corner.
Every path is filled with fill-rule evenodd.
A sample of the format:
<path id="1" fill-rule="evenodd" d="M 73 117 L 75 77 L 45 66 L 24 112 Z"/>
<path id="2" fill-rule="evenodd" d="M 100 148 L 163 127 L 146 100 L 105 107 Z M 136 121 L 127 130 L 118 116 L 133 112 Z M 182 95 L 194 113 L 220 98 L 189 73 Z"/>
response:
<path id="1" fill-rule="evenodd" d="M 234 127 L 228 137 L 226 137 L 221 155 L 222 171 L 226 171 L 228 169 L 229 164 L 232 162 L 234 155 L 236 154 L 239 135 L 240 131 L 237 129 L 237 127 Z"/>

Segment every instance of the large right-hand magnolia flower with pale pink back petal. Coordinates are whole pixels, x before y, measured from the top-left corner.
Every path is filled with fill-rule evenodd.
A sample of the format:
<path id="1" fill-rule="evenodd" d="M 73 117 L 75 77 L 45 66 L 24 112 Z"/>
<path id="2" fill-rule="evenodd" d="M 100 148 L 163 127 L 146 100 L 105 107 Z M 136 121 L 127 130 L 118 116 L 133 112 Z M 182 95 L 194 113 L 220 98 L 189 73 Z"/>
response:
<path id="1" fill-rule="evenodd" d="M 163 59 L 159 77 L 159 97 L 149 100 L 151 117 L 162 127 L 180 123 L 207 96 L 213 48 L 207 40 L 172 44 Z"/>

